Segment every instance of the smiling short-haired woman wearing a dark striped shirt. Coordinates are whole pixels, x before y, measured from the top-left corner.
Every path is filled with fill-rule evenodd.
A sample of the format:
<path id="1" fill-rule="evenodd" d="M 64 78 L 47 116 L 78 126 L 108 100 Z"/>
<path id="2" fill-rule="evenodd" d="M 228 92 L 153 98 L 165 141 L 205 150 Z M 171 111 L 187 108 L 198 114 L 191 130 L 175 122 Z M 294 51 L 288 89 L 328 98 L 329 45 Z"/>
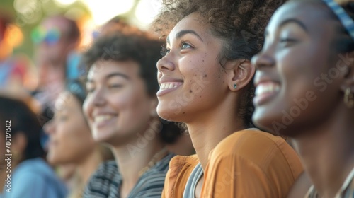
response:
<path id="1" fill-rule="evenodd" d="M 84 197 L 161 197 L 174 155 L 156 114 L 160 49 L 151 35 L 116 33 L 98 38 L 84 54 L 84 112 L 93 139 L 109 144 L 115 156 L 94 173 Z"/>

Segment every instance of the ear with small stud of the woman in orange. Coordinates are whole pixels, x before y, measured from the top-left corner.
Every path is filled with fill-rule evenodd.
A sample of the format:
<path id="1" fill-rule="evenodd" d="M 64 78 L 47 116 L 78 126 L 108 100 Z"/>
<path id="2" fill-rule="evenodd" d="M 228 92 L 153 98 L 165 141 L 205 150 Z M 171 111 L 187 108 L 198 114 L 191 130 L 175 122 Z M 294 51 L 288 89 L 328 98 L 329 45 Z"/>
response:
<path id="1" fill-rule="evenodd" d="M 256 68 L 251 64 L 251 61 L 247 59 L 238 59 L 228 62 L 228 64 L 234 64 L 232 72 L 229 74 L 229 89 L 231 91 L 239 91 L 241 88 L 247 86 L 252 80 Z M 236 88 L 234 85 L 236 85 Z"/>

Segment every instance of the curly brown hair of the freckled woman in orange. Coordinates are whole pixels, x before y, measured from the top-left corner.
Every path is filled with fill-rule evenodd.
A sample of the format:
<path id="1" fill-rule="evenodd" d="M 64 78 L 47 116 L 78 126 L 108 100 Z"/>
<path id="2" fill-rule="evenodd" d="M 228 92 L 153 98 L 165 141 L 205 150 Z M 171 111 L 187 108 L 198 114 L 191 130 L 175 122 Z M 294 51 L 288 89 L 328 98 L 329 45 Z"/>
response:
<path id="1" fill-rule="evenodd" d="M 164 0 L 164 6 L 153 23 L 153 29 L 160 38 L 166 37 L 171 29 L 185 16 L 198 13 L 210 25 L 213 35 L 224 40 L 219 62 L 233 59 L 250 60 L 263 45 L 263 33 L 276 8 L 285 0 Z M 247 127 L 253 127 L 251 120 L 254 107 L 253 83 L 246 87 L 241 97 L 241 108 L 237 113 Z"/>

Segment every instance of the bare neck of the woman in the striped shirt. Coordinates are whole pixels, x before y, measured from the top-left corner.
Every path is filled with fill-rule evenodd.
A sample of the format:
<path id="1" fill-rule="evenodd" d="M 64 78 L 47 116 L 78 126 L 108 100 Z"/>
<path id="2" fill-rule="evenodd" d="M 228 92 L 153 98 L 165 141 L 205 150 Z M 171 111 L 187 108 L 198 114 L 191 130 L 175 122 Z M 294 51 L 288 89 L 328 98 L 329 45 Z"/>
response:
<path id="1" fill-rule="evenodd" d="M 145 144 L 143 145 L 142 142 Z M 135 187 L 139 180 L 139 172 L 142 169 L 146 170 L 148 163 L 151 163 L 155 154 L 159 153 L 163 148 L 164 145 L 158 135 L 152 140 L 135 139 L 135 141 L 130 144 L 113 146 L 112 150 L 115 161 L 118 164 L 118 171 L 124 181 L 121 187 L 123 194 L 128 194 L 127 192 L 130 192 L 132 188 Z M 164 156 L 161 156 L 157 161 L 164 158 Z"/>

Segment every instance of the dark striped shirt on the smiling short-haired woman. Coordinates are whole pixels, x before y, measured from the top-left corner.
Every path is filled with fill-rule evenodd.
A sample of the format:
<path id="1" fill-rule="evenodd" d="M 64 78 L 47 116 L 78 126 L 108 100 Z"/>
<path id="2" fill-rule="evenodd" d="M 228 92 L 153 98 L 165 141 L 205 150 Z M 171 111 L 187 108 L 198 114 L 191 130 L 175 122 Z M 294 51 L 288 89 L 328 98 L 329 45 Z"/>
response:
<path id="1" fill-rule="evenodd" d="M 169 161 L 173 158 L 169 153 L 156 165 L 147 170 L 137 181 L 137 185 L 132 189 L 128 198 L 135 197 L 161 197 L 164 188 L 164 180 Z M 122 185 L 122 175 L 118 172 L 115 161 L 107 161 L 100 165 L 93 173 L 84 191 L 84 198 L 120 198 L 120 185 Z"/>

